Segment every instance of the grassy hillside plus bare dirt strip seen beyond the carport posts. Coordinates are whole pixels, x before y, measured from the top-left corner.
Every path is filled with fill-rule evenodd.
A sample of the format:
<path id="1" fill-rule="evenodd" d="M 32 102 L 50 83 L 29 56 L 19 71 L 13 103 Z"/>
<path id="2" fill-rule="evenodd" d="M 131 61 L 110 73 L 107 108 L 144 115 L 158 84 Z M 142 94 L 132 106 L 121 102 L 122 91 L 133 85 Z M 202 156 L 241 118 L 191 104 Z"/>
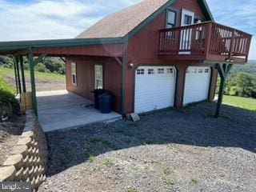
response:
<path id="1" fill-rule="evenodd" d="M 0 67 L 0 77 L 15 87 L 14 70 Z M 26 87 L 30 90 L 30 71 L 25 70 Z M 66 76 L 63 74 L 50 74 L 35 71 L 36 88 L 38 91 L 44 90 L 64 90 L 66 89 Z"/>

